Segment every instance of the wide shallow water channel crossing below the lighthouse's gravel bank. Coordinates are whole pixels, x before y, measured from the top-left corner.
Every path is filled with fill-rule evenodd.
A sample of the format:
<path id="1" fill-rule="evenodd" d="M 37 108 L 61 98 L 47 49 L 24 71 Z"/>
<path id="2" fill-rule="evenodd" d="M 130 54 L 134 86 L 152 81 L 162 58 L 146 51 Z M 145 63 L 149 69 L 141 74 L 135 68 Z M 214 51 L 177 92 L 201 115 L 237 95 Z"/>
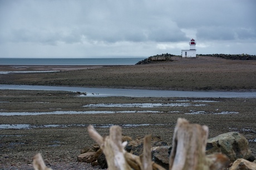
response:
<path id="1" fill-rule="evenodd" d="M 140 89 L 110 89 L 91 87 L 65 86 L 32 86 L 32 85 L 0 85 L 0 89 L 17 90 L 61 90 L 86 92 L 87 97 L 126 96 L 126 97 L 242 97 L 256 98 L 256 91 L 178 91 L 178 90 L 140 90 Z"/>

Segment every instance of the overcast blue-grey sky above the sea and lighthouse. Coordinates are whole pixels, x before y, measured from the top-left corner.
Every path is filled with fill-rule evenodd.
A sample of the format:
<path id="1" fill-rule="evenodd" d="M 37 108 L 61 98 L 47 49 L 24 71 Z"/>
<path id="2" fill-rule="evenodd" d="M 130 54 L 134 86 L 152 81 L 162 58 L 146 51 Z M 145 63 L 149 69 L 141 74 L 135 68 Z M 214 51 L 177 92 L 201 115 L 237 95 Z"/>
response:
<path id="1" fill-rule="evenodd" d="M 0 0 L 0 58 L 256 54 L 255 0 Z"/>

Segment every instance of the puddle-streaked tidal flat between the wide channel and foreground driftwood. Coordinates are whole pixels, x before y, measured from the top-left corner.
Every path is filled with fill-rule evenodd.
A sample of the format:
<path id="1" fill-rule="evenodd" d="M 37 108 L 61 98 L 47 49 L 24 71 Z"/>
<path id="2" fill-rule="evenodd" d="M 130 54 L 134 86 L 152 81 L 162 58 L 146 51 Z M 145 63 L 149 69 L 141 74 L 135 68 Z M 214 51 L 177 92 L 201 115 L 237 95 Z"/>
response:
<path id="1" fill-rule="evenodd" d="M 102 136 L 109 134 L 110 126 L 119 125 L 125 136 L 135 139 L 151 134 L 171 145 L 179 117 L 209 126 L 209 138 L 230 131 L 242 133 L 254 155 L 256 152 L 256 99 L 78 97 L 67 91 L 0 90 L 0 101 L 5 101 L 0 104 L 1 112 L 31 113 L 3 116 L 0 112 L 0 125 L 8 126 L 0 129 L 0 163 L 5 165 L 31 164 L 38 152 L 47 164 L 76 162 L 80 150 L 95 143 L 88 136 L 88 125 L 95 126 Z"/>

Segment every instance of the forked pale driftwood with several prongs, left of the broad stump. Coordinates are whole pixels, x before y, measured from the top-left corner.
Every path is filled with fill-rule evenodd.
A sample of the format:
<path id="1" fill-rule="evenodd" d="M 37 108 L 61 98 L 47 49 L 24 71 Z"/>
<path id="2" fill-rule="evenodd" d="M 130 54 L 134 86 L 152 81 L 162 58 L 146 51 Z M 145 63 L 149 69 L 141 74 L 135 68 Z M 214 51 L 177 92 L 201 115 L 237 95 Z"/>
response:
<path id="1" fill-rule="evenodd" d="M 139 156 L 125 151 L 127 142 L 122 143 L 121 127 L 110 127 L 110 135 L 105 138 L 93 126 L 88 126 L 88 132 L 104 152 L 109 169 L 164 169 L 151 161 L 151 136 L 144 138 L 144 156 L 141 160 Z"/>

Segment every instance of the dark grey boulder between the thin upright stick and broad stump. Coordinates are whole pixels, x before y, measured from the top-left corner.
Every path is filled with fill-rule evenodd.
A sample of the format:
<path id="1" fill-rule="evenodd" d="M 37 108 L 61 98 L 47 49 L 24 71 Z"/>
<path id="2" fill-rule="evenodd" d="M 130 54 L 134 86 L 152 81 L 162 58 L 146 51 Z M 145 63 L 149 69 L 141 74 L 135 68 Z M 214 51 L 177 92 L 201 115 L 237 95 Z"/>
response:
<path id="1" fill-rule="evenodd" d="M 151 148 L 152 161 L 164 167 L 169 168 L 169 153 L 171 146 L 156 146 Z"/>

